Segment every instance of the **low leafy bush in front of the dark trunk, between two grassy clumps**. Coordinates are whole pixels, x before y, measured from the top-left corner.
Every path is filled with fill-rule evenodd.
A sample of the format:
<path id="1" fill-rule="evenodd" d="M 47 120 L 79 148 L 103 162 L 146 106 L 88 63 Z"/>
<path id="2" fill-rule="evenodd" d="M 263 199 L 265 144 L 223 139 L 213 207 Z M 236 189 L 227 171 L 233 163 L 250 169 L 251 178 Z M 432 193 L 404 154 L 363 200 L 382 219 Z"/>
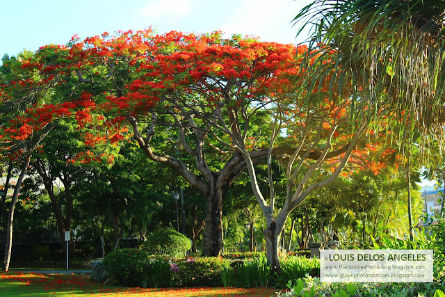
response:
<path id="1" fill-rule="evenodd" d="M 221 257 L 189 258 L 171 264 L 175 285 L 180 287 L 222 287 L 222 271 L 229 262 Z"/>

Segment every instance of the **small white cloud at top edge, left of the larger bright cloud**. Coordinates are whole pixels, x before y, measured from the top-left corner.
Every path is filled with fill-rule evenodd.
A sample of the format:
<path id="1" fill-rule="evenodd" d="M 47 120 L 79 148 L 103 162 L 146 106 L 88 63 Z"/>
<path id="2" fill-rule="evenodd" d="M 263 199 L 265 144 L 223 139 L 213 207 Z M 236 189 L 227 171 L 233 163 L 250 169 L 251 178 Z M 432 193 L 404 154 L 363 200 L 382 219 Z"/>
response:
<path id="1" fill-rule="evenodd" d="M 141 13 L 151 19 L 172 22 L 186 17 L 192 10 L 192 0 L 149 0 Z"/>

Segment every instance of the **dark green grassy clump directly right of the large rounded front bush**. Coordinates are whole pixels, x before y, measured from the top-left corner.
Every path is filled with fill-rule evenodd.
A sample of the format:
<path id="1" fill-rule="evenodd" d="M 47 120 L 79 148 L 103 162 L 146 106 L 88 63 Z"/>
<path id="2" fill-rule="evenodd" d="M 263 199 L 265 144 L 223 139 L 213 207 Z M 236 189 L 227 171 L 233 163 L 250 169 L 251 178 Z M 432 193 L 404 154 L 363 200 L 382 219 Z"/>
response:
<path id="1" fill-rule="evenodd" d="M 144 265 L 143 287 L 161 288 L 172 285 L 170 262 L 165 259 L 149 259 Z"/>

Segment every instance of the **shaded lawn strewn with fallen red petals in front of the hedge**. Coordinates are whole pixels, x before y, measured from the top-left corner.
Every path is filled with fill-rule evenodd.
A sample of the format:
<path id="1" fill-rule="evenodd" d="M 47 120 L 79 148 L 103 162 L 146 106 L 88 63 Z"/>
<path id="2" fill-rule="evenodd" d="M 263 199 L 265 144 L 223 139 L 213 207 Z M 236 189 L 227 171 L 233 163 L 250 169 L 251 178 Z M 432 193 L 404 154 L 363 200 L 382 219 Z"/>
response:
<path id="1" fill-rule="evenodd" d="M 0 296 L 275 296 L 276 289 L 172 288 L 143 289 L 113 287 L 91 282 L 88 276 L 42 275 L 2 272 Z"/>

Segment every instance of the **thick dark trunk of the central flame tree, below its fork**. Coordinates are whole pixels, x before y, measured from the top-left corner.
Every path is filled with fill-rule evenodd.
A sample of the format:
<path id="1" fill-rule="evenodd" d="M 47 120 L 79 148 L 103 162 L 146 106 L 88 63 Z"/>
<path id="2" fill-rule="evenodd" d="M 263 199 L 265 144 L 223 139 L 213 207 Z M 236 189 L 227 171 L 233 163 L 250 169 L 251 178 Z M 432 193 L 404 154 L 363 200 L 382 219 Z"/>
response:
<path id="1" fill-rule="evenodd" d="M 212 185 L 207 192 L 207 214 L 204 219 L 202 255 L 218 257 L 223 249 L 223 191 Z"/>

